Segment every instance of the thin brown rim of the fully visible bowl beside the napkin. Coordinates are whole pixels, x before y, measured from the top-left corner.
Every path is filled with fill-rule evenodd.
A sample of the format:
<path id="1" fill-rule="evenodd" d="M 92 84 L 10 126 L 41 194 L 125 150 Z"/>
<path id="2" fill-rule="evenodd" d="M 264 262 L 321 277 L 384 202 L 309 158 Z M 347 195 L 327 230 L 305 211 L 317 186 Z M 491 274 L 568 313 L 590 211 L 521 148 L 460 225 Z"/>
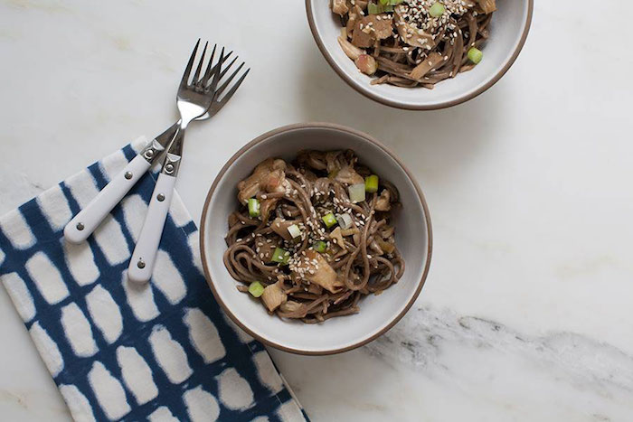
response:
<path id="1" fill-rule="evenodd" d="M 427 224 L 427 232 L 428 232 L 428 252 L 427 252 L 427 260 L 426 260 L 426 264 L 424 266 L 424 270 L 422 272 L 422 278 L 420 279 L 420 284 L 417 287 L 416 291 L 414 292 L 413 296 L 411 297 L 411 300 L 407 303 L 407 305 L 402 309 L 402 312 L 398 315 L 396 315 L 395 318 L 393 318 L 392 322 L 390 324 L 387 324 L 383 330 L 381 330 L 378 333 L 373 334 L 372 336 L 360 341 L 360 342 L 355 342 L 352 345 L 340 348 L 340 349 L 333 349 L 333 350 L 327 350 L 327 351 L 307 351 L 307 350 L 301 350 L 301 349 L 293 349 L 293 348 L 289 348 L 287 346 L 284 346 L 282 344 L 278 344 L 276 342 L 270 342 L 267 339 L 264 339 L 263 337 L 261 337 L 258 333 L 254 333 L 252 330 L 250 330 L 249 328 L 247 328 L 244 324 L 241 324 L 241 321 L 234 315 L 231 313 L 231 310 L 229 309 L 229 307 L 227 305 L 224 304 L 224 302 L 222 302 L 222 298 L 220 297 L 220 295 L 218 294 L 218 292 L 215 290 L 215 286 L 213 285 L 213 280 L 212 277 L 210 275 L 209 272 L 209 267 L 208 264 L 206 262 L 206 259 L 204 257 L 206 257 L 205 254 L 205 244 L 204 244 L 204 233 L 206 231 L 206 216 L 207 213 L 209 212 L 209 204 L 211 203 L 211 198 L 213 197 L 213 193 L 215 192 L 215 188 L 217 187 L 218 183 L 220 183 L 220 181 L 222 180 L 222 177 L 224 176 L 224 173 L 226 173 L 226 171 L 229 169 L 229 167 L 231 166 L 231 164 L 233 164 L 241 155 L 243 155 L 246 151 L 248 151 L 251 147 L 253 147 L 254 145 L 259 144 L 260 142 L 265 141 L 266 139 L 269 139 L 271 136 L 277 136 L 281 133 L 284 132 L 289 132 L 289 131 L 293 131 L 293 130 L 298 130 L 298 129 L 306 129 L 306 128 L 325 128 L 325 129 L 334 129 L 337 131 L 341 131 L 341 132 L 345 132 L 347 134 L 351 134 L 354 136 L 360 136 L 362 138 L 364 138 L 364 140 L 377 145 L 378 147 L 380 147 L 381 149 L 383 149 L 383 151 L 387 154 L 392 156 L 392 158 L 396 161 L 396 163 L 398 163 L 401 167 L 402 170 L 404 171 L 404 173 L 406 173 L 407 177 L 411 180 L 411 183 L 413 183 L 413 186 L 415 187 L 416 192 L 418 192 L 418 196 L 420 198 L 420 202 L 422 203 L 422 208 L 424 209 L 424 216 L 425 216 L 425 220 L 426 220 L 426 224 Z M 350 350 L 353 350 L 357 347 L 363 346 L 364 344 L 367 344 L 368 342 L 373 342 L 373 340 L 375 340 L 376 338 L 378 338 L 379 336 L 383 335 L 383 333 L 386 333 L 387 331 L 389 331 L 393 325 L 395 325 L 396 323 L 398 323 L 401 319 L 402 316 L 404 316 L 404 314 L 406 314 L 409 309 L 411 308 L 411 305 L 413 305 L 413 303 L 416 301 L 416 299 L 418 298 L 418 296 L 420 295 L 420 291 L 422 290 L 422 286 L 424 286 L 424 282 L 426 281 L 426 278 L 429 274 L 429 268 L 430 268 L 430 258 L 432 255 L 432 251 L 433 251 L 433 234 L 432 234 L 432 227 L 431 227 L 431 223 L 430 223 L 430 213 L 429 213 L 429 207 L 427 205 L 426 199 L 424 198 L 424 194 L 422 193 L 421 189 L 420 189 L 420 185 L 417 183 L 417 181 L 415 180 L 415 178 L 413 177 L 413 175 L 411 174 L 411 172 L 409 171 L 409 169 L 402 163 L 402 161 L 392 153 L 392 151 L 386 147 L 385 145 L 383 145 L 380 141 L 374 139 L 372 136 L 369 136 L 367 134 L 364 134 L 363 132 L 360 132 L 358 130 L 352 129 L 350 127 L 344 127 L 341 125 L 335 125 L 332 123 L 320 123 L 320 122 L 313 122 L 313 123 L 299 123 L 299 124 L 295 124 L 295 125 L 288 125 L 288 126 L 284 126 L 284 127 L 278 127 L 276 129 L 270 130 L 269 132 L 266 132 L 265 134 L 256 137 L 255 139 L 253 139 L 252 141 L 250 141 L 250 143 L 248 143 L 247 145 L 244 145 L 241 147 L 241 149 L 235 153 L 234 155 L 231 156 L 231 158 L 229 159 L 229 161 L 224 164 L 224 166 L 222 167 L 222 170 L 220 171 L 220 173 L 218 173 L 218 175 L 215 177 L 215 180 L 213 180 L 213 184 L 211 185 L 211 188 L 209 189 L 209 192 L 207 193 L 206 199 L 204 201 L 204 207 L 203 207 L 203 213 L 202 213 L 202 217 L 201 217 L 201 221 L 200 221 L 200 254 L 201 254 L 201 260 L 203 263 L 203 270 L 204 270 L 204 277 L 207 280 L 207 284 L 209 285 L 209 287 L 211 287 L 211 291 L 213 293 L 213 296 L 215 297 L 215 300 L 218 301 L 218 303 L 222 306 L 222 309 L 224 310 L 224 312 L 226 314 L 229 315 L 229 317 L 231 318 L 231 320 L 233 321 L 233 323 L 237 324 L 242 330 L 244 330 L 246 333 L 249 333 L 250 336 L 254 337 L 255 339 L 259 340 L 260 342 L 263 342 L 264 344 L 267 344 L 271 347 L 274 347 L 276 349 L 279 349 L 281 351 L 284 352 L 290 352 L 290 353 L 296 353 L 296 354 L 303 354 L 303 355 L 310 355 L 310 356 L 322 356 L 322 355 L 329 355 L 329 354 L 336 354 L 336 353 L 341 353 L 341 352 L 347 352 Z"/>

